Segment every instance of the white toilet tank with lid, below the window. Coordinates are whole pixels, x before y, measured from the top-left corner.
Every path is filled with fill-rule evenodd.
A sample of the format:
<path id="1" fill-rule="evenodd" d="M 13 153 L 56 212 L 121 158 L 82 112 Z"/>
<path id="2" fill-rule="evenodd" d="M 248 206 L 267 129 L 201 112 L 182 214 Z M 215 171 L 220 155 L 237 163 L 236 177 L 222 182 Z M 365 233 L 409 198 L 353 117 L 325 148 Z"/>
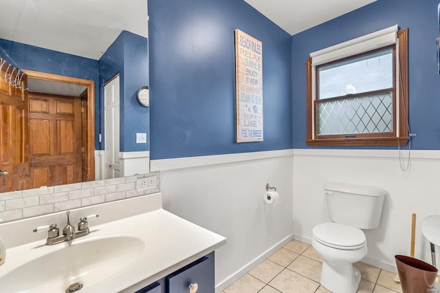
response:
<path id="1" fill-rule="evenodd" d="M 375 229 L 386 191 L 375 186 L 329 182 L 324 185 L 330 220 L 360 229 Z"/>

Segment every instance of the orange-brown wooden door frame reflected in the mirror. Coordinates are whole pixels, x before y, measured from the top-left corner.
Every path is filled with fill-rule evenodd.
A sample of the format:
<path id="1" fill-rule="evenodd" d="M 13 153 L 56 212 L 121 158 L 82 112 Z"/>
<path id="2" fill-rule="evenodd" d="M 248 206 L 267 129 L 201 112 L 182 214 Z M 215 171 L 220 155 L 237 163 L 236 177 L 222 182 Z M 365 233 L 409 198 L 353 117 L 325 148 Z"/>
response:
<path id="1" fill-rule="evenodd" d="M 22 69 L 22 72 L 28 78 L 57 81 L 58 83 L 70 83 L 74 85 L 84 85 L 87 87 L 87 147 L 83 164 L 87 166 L 87 180 L 95 180 L 95 82 L 83 78 L 61 76 L 58 74 L 48 74 L 45 72 L 35 72 L 28 69 Z"/>

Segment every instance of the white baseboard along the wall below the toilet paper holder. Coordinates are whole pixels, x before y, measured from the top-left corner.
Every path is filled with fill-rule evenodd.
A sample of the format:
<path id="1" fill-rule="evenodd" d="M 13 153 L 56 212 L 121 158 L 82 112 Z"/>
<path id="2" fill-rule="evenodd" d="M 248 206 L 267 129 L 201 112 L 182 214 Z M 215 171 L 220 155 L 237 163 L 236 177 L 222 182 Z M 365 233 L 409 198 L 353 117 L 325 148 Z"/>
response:
<path id="1" fill-rule="evenodd" d="M 292 241 L 292 239 L 294 239 L 294 235 L 289 235 L 288 237 L 286 237 L 285 239 L 283 239 L 282 241 L 280 241 L 276 245 L 272 246 L 272 248 L 270 248 L 269 250 L 266 250 L 266 252 L 261 254 L 259 257 L 257 257 L 256 259 L 254 259 L 253 261 L 251 261 L 247 265 L 243 266 L 243 268 L 241 268 L 240 270 L 237 270 L 236 272 L 234 272 L 234 274 L 228 276 L 228 278 L 226 278 L 223 281 L 221 281 L 220 283 L 218 283 L 215 286 L 215 293 L 221 293 L 227 287 L 232 285 L 232 283 L 239 280 L 242 276 L 244 276 L 245 274 L 250 272 L 250 270 L 252 270 L 257 265 L 262 263 L 265 259 L 267 259 L 267 257 L 270 257 L 272 254 L 274 254 L 276 252 L 276 250 L 285 246 L 287 243 L 289 243 L 289 241 Z"/>

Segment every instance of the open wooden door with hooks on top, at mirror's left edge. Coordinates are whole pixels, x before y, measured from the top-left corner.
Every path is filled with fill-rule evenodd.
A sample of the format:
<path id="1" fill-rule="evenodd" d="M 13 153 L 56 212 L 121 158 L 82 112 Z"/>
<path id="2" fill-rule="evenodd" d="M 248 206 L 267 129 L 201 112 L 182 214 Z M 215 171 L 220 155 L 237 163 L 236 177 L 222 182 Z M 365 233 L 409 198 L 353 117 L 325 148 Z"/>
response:
<path id="1" fill-rule="evenodd" d="M 5 75 L 15 77 L 4 69 L 0 72 L 0 170 L 8 173 L 0 177 L 0 192 L 33 187 L 28 164 L 28 92 L 7 83 Z M 28 84 L 25 75 L 21 84 Z"/>

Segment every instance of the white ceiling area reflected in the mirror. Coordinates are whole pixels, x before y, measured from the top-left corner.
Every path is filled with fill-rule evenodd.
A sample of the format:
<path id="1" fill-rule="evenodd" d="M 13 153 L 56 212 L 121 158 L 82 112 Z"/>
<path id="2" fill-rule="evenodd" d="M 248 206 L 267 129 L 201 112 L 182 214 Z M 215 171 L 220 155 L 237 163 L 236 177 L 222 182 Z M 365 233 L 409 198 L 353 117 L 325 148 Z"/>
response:
<path id="1" fill-rule="evenodd" d="M 0 38 L 98 60 L 122 30 L 148 35 L 146 0 L 1 0 Z"/>

